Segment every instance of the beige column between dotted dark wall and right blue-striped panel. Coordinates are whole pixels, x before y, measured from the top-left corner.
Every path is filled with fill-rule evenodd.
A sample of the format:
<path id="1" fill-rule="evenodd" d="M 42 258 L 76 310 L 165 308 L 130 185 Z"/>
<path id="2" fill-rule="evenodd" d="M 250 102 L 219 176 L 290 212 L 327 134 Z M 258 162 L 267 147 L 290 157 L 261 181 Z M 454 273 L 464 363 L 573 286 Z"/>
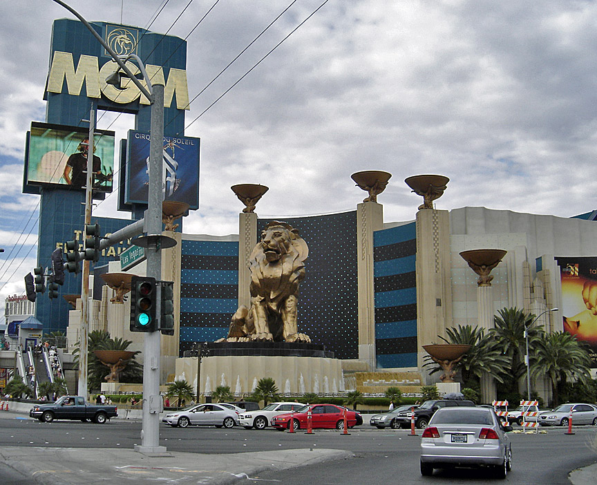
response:
<path id="1" fill-rule="evenodd" d="M 375 291 L 373 231 L 383 229 L 383 206 L 377 202 L 357 205 L 357 274 L 359 301 L 359 360 L 375 370 Z"/>

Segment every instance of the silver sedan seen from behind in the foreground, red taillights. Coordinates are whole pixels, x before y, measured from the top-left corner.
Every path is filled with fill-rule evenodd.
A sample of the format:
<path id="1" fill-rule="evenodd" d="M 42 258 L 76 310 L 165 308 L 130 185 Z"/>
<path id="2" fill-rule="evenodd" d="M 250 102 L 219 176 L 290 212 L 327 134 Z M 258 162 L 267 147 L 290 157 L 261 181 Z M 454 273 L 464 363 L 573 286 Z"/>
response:
<path id="1" fill-rule="evenodd" d="M 421 438 L 421 475 L 434 468 L 494 467 L 506 478 L 512 468 L 512 447 L 504 426 L 493 410 L 448 407 L 437 410 Z"/>

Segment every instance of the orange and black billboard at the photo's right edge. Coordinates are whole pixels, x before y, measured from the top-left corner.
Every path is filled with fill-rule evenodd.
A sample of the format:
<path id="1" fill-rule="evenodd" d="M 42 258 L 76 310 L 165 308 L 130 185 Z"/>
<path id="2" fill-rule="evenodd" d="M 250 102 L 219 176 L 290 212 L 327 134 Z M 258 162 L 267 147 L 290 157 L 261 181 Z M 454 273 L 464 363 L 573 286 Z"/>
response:
<path id="1" fill-rule="evenodd" d="M 564 330 L 591 348 L 597 368 L 597 257 L 556 258 L 560 266 Z"/>

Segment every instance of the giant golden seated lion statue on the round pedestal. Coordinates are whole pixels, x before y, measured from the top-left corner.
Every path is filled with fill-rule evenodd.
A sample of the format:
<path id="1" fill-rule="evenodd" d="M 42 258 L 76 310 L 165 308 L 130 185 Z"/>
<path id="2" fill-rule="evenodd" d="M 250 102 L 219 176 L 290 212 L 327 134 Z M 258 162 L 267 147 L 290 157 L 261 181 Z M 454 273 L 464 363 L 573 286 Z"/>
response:
<path id="1" fill-rule="evenodd" d="M 285 222 L 269 222 L 249 256 L 251 308 L 236 310 L 230 323 L 229 342 L 305 342 L 296 326 L 299 283 L 305 278 L 307 243 Z"/>

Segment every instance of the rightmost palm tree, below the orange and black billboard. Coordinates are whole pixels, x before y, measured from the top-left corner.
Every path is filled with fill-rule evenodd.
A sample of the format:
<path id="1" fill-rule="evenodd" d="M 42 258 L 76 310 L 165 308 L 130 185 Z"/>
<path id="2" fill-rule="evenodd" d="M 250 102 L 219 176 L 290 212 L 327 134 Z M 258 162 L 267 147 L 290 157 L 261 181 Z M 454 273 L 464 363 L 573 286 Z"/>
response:
<path id="1" fill-rule="evenodd" d="M 568 332 L 542 333 L 533 341 L 531 377 L 547 377 L 553 405 L 558 401 L 558 384 L 591 379 L 591 357 Z"/>

